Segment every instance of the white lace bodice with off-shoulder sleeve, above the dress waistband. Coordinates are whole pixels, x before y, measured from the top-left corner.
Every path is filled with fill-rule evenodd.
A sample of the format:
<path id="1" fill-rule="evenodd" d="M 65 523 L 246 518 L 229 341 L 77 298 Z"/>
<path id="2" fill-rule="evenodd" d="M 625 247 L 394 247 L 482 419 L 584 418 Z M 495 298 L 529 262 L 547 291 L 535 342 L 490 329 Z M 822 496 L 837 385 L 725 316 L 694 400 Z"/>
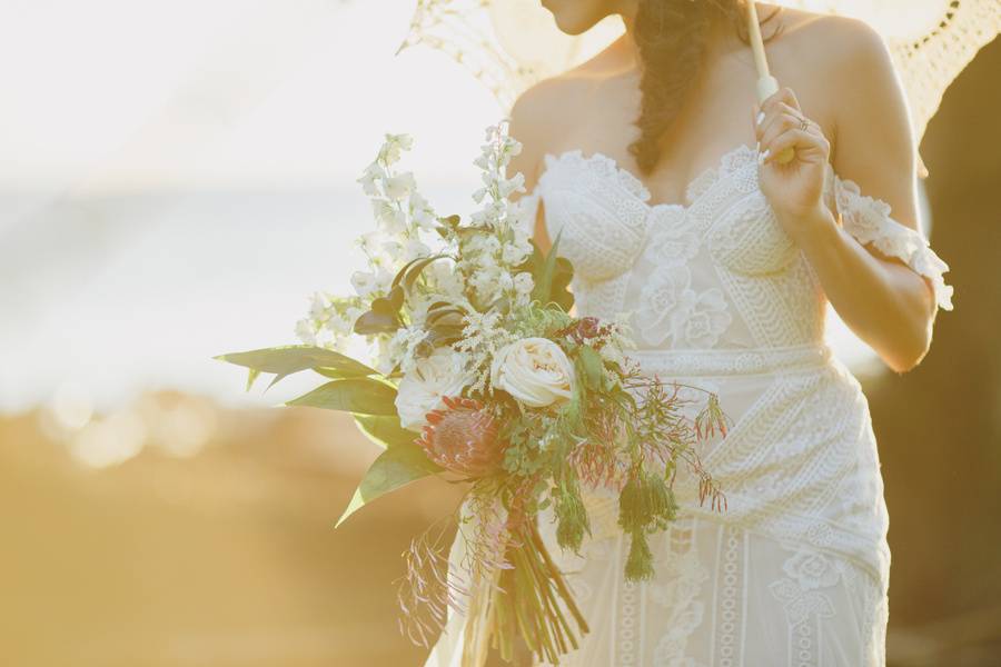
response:
<path id="1" fill-rule="evenodd" d="M 545 156 L 535 190 L 551 239 L 575 267 L 579 313 L 630 313 L 641 350 L 763 349 L 823 340 L 825 298 L 803 252 L 757 182 L 757 152 L 739 146 L 686 188 L 685 203 L 651 203 L 643 182 L 612 158 Z M 931 279 L 951 309 L 948 265 L 919 232 L 829 165 L 825 197 L 860 242 Z M 534 216 L 531 218 L 534 219 Z"/>

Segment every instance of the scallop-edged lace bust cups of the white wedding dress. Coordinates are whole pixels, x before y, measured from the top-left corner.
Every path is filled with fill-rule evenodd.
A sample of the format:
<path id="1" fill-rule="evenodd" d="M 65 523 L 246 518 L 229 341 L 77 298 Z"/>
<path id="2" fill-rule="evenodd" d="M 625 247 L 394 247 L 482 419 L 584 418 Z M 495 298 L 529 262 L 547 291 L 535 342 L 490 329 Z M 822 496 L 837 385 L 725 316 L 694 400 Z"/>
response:
<path id="1" fill-rule="evenodd" d="M 769 276 L 799 255 L 761 192 L 757 151 L 746 145 L 687 182 L 684 205 L 652 202 L 643 181 L 603 153 L 573 149 L 545 162 L 546 231 L 589 281 L 667 265 Z"/>

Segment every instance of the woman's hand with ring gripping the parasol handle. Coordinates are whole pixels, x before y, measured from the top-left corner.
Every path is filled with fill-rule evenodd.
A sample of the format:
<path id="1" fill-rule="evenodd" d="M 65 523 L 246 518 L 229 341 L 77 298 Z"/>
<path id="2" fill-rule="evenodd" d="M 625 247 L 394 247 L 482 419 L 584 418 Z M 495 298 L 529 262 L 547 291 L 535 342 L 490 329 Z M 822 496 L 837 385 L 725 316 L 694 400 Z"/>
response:
<path id="1" fill-rule="evenodd" d="M 814 231 L 812 227 L 827 219 L 821 213 L 831 143 L 820 126 L 803 116 L 789 88 L 766 99 L 760 109 L 755 104 L 754 120 L 761 190 L 786 233 L 800 243 L 804 235 Z M 793 159 L 781 165 L 775 158 L 786 149 L 794 151 Z"/>

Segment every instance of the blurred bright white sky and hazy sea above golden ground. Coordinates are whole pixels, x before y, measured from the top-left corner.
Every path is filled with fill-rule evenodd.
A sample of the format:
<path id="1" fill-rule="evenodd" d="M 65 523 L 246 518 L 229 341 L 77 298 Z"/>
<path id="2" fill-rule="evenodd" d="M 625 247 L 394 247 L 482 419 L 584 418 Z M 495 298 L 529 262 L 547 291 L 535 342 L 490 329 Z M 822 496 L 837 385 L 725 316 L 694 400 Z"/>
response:
<path id="1" fill-rule="evenodd" d="M 415 137 L 438 212 L 467 213 L 502 115 L 445 56 L 395 56 L 413 6 L 0 0 L 0 410 L 315 384 L 244 395 L 210 357 L 296 342 L 308 296 L 349 289 L 384 132 Z"/>

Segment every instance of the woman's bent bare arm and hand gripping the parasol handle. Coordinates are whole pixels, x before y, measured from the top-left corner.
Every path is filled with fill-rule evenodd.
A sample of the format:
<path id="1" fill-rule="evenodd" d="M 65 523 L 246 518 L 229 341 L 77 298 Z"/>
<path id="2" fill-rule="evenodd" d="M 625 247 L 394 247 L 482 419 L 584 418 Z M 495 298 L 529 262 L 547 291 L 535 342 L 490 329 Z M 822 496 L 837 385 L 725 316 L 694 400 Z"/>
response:
<path id="1" fill-rule="evenodd" d="M 829 76 L 835 98 L 835 172 L 855 181 L 865 195 L 890 205 L 893 219 L 918 227 L 916 156 L 904 96 L 890 54 L 868 26 L 839 20 L 836 44 L 844 53 Z M 832 40 L 833 41 L 833 40 Z M 817 48 L 824 48 L 820 44 Z M 824 292 L 844 322 L 896 372 L 915 367 L 928 352 L 936 312 L 926 278 L 895 257 L 863 246 L 823 202 L 824 166 L 830 143 L 815 123 L 799 129 L 799 103 L 784 89 L 762 104 L 759 126 L 762 190 L 783 227 L 802 248 Z M 795 162 L 780 166 L 772 157 L 796 148 Z M 821 180 L 817 180 L 820 178 Z"/>

